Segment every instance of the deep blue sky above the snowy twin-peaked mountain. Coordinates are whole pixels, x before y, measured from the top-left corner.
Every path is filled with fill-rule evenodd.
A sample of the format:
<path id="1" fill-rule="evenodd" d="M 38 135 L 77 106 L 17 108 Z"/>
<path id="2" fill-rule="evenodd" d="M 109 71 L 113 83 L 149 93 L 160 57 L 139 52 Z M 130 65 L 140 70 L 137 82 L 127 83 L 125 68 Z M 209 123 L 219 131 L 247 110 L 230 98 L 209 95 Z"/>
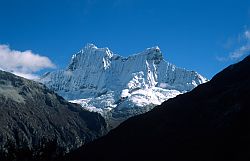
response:
<path id="1" fill-rule="evenodd" d="M 30 62 L 20 55 L 16 67 L 13 56 L 0 60 L 27 74 L 64 68 L 86 43 L 123 56 L 158 45 L 167 61 L 209 79 L 250 51 L 249 0 L 0 0 L 0 21 L 0 54 L 45 56 L 22 69 Z"/>

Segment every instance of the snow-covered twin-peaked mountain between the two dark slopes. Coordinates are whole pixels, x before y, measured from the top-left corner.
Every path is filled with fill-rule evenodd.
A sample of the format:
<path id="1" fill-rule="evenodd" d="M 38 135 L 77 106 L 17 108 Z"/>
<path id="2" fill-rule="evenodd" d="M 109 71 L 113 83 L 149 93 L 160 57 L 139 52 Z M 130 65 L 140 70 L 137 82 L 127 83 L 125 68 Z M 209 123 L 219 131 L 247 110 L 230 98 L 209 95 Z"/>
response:
<path id="1" fill-rule="evenodd" d="M 165 61 L 159 47 L 122 57 L 108 48 L 87 44 L 72 56 L 66 69 L 46 73 L 40 81 L 85 109 L 127 118 L 190 91 L 207 79 Z M 126 116 L 121 116 L 121 111 L 126 111 Z"/>

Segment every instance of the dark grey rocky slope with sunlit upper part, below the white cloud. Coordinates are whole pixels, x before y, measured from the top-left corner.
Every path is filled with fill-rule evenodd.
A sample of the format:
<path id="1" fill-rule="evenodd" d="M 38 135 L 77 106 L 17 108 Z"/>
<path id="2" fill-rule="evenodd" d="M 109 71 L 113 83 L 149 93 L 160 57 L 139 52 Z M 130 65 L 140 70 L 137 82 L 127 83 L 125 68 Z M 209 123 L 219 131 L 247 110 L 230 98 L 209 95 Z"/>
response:
<path id="1" fill-rule="evenodd" d="M 1 161 L 47 160 L 105 133 L 101 115 L 68 103 L 40 83 L 0 71 Z"/>

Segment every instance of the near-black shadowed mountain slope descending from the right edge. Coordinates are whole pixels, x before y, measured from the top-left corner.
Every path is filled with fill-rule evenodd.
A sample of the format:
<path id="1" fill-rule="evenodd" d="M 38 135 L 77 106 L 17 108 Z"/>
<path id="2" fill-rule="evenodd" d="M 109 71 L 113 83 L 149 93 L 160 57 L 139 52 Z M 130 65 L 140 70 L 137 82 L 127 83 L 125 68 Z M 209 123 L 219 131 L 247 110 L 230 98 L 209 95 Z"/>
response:
<path id="1" fill-rule="evenodd" d="M 68 160 L 250 160 L 250 56 L 133 117 Z"/>

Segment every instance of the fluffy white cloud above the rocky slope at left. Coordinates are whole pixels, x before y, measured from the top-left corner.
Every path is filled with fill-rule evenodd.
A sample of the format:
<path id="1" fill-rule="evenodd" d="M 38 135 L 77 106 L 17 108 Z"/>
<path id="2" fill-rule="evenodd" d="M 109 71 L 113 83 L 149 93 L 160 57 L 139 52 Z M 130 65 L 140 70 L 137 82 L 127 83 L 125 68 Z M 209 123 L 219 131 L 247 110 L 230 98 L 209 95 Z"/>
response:
<path id="1" fill-rule="evenodd" d="M 0 69 L 2 70 L 28 79 L 36 79 L 37 71 L 54 67 L 48 57 L 35 54 L 31 50 L 12 50 L 8 45 L 0 44 Z"/>

